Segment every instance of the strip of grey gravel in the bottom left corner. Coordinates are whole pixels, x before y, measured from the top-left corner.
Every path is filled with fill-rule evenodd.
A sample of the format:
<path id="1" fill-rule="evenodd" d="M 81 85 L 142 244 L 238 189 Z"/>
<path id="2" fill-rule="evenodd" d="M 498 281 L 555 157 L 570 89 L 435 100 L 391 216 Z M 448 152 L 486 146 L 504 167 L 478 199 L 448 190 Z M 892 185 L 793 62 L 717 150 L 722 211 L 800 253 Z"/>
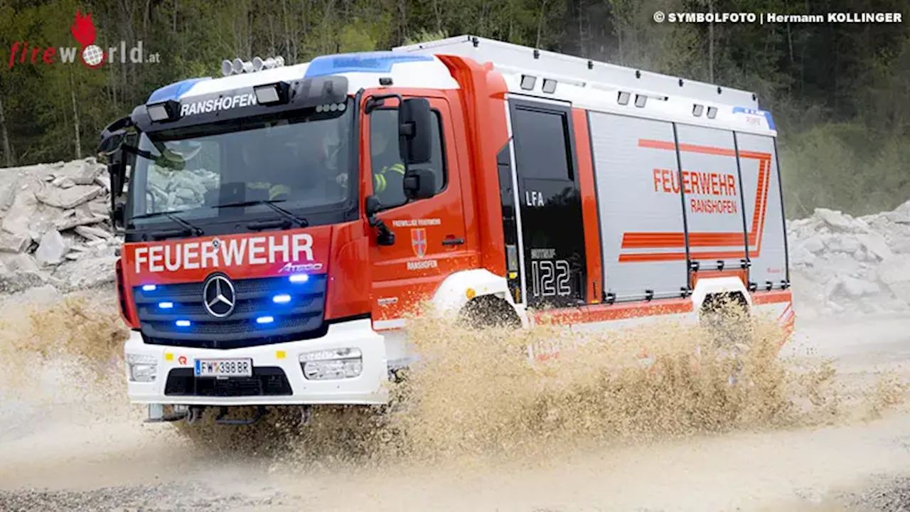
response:
<path id="1" fill-rule="evenodd" d="M 4 512 L 182 512 L 190 510 L 258 510 L 281 506 L 277 491 L 260 497 L 225 495 L 201 484 L 111 486 L 86 491 L 0 490 Z"/>

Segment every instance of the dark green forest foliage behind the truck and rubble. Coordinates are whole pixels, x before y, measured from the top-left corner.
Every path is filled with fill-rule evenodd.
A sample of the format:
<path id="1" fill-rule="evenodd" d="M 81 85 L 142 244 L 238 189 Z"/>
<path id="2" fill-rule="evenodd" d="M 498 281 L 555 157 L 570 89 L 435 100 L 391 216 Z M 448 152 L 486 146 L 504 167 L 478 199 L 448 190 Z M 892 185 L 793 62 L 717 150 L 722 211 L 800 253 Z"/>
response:
<path id="1" fill-rule="evenodd" d="M 161 63 L 7 68 L 15 41 L 77 46 L 76 10 L 91 13 L 102 48 L 141 40 Z M 658 24 L 656 10 L 907 21 Z M 0 0 L 0 163 L 89 155 L 107 122 L 157 87 L 220 76 L 224 58 L 295 64 L 473 34 L 753 90 L 780 132 L 788 217 L 862 214 L 910 199 L 908 23 L 903 0 Z"/>

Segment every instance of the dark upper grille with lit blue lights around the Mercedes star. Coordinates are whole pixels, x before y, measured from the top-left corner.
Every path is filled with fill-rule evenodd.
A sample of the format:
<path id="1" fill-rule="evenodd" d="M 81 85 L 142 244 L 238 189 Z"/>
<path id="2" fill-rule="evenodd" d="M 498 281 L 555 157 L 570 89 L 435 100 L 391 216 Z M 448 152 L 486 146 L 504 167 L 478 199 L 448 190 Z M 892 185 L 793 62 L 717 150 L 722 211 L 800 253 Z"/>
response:
<path id="1" fill-rule="evenodd" d="M 327 282 L 325 274 L 299 283 L 287 276 L 233 281 L 234 311 L 225 318 L 206 311 L 203 282 L 157 285 L 154 290 L 136 286 L 133 299 L 146 343 L 228 349 L 324 335 Z M 289 295 L 290 301 L 276 304 L 272 298 L 278 294 Z M 272 320 L 258 323 L 262 317 Z"/>

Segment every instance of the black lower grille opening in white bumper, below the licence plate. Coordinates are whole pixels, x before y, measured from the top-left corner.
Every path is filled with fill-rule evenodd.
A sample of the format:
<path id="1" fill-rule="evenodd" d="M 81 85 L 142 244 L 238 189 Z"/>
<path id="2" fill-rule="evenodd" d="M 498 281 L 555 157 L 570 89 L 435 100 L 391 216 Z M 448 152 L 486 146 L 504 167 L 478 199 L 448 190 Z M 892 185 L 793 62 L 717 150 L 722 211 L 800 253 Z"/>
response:
<path id="1" fill-rule="evenodd" d="M 252 377 L 197 378 L 192 368 L 167 374 L 167 396 L 276 396 L 292 394 L 288 377 L 277 366 L 257 366 Z"/>

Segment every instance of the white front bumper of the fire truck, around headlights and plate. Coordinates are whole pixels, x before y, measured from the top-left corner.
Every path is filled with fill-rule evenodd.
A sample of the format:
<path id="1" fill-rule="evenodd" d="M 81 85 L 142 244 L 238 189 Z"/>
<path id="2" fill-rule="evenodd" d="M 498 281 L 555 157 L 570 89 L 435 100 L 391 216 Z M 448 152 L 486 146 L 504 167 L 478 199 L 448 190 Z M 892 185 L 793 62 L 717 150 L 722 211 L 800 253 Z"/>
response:
<path id="1" fill-rule="evenodd" d="M 299 354 L 321 350 L 358 348 L 362 371 L 352 378 L 308 380 L 300 367 Z M 157 364 L 153 382 L 133 382 L 126 369 L 126 394 L 133 404 L 187 405 L 295 405 L 295 404 L 385 404 L 389 399 L 389 367 L 385 338 L 373 331 L 369 319 L 329 325 L 321 338 L 243 347 L 237 349 L 199 349 L 143 343 L 140 333 L 132 332 L 124 345 L 127 360 L 143 359 Z M 290 386 L 289 394 L 197 395 L 166 394 L 168 375 L 192 372 L 196 359 L 250 358 L 254 374 L 258 368 L 275 373 L 280 369 Z M 210 383 L 207 383 L 210 384 Z M 173 391 L 173 390 L 171 390 Z"/>

